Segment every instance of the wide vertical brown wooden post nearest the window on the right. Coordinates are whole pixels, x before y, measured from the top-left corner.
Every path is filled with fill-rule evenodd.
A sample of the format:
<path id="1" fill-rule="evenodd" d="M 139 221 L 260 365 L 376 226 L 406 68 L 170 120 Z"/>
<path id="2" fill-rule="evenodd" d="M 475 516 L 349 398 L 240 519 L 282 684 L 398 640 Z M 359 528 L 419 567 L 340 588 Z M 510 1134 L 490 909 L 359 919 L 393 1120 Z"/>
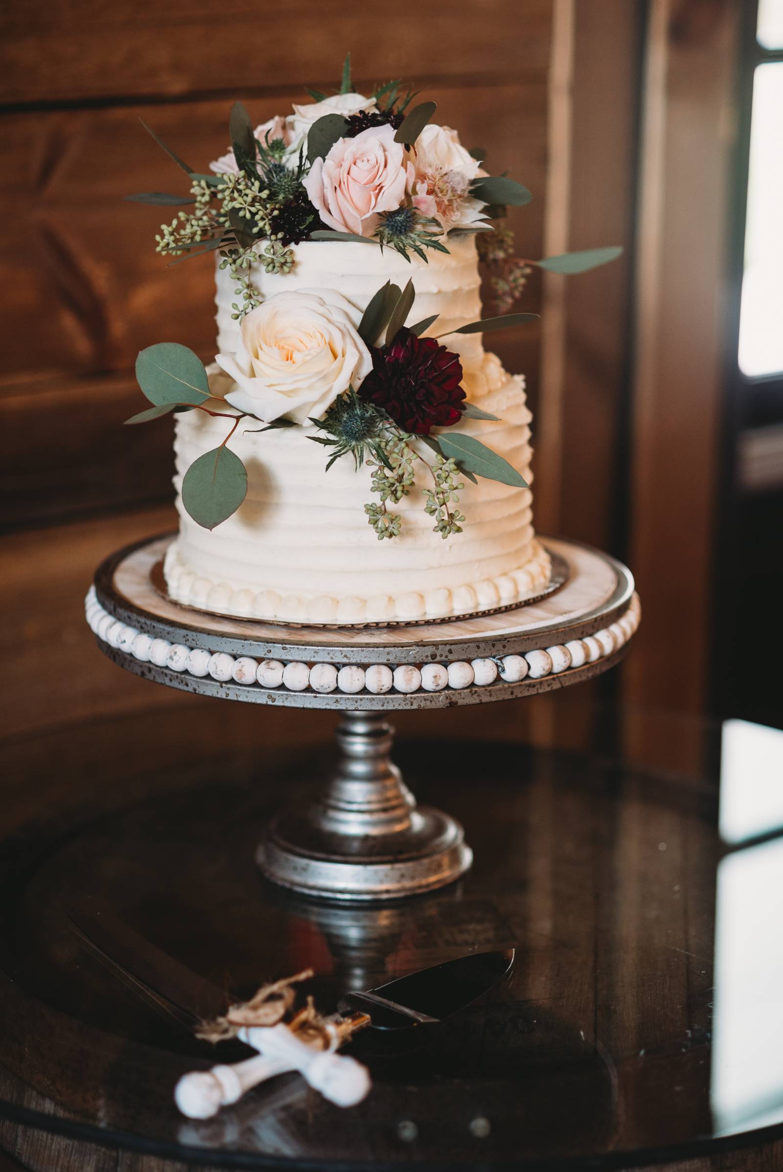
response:
<path id="1" fill-rule="evenodd" d="M 629 559 L 640 704 L 704 706 L 738 6 L 649 6 Z"/>

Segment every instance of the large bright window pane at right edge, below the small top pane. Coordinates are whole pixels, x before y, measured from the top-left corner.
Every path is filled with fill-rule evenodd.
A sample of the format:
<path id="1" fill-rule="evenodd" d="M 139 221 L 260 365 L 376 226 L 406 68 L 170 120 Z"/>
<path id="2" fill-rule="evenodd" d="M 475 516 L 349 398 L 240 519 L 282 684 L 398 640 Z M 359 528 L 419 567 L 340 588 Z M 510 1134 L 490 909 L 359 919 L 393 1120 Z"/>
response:
<path id="1" fill-rule="evenodd" d="M 783 0 L 771 0 L 783 20 Z M 760 18 L 761 19 L 761 18 Z M 754 76 L 745 258 L 740 309 L 740 369 L 783 370 L 783 62 Z"/>

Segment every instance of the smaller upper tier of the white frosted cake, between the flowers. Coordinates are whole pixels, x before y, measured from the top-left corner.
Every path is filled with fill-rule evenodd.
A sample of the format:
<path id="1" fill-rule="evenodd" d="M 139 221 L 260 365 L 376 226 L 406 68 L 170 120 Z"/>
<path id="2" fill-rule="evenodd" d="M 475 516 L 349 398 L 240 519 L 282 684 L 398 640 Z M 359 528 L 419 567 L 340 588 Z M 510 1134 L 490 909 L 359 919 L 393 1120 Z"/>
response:
<path id="1" fill-rule="evenodd" d="M 275 293 L 297 289 L 338 289 L 361 313 L 386 281 L 402 288 L 413 279 L 416 301 L 410 322 L 438 314 L 427 334 L 444 334 L 469 321 L 477 321 L 482 315 L 478 257 L 472 234 L 452 237 L 449 239 L 449 252 L 430 252 L 428 263 L 415 254 L 406 260 L 394 248 L 381 250 L 373 241 L 306 240 L 292 245 L 292 251 L 294 266 L 290 273 L 266 273 L 261 265 L 253 265 L 251 279 L 263 300 Z M 239 304 L 240 298 L 233 277 L 227 268 L 219 267 L 219 261 L 216 281 L 218 350 L 232 354 L 239 333 L 239 322 L 231 316 L 234 312 L 232 306 Z M 463 369 L 481 366 L 481 334 L 455 334 L 443 341 L 450 350 L 459 354 Z"/>

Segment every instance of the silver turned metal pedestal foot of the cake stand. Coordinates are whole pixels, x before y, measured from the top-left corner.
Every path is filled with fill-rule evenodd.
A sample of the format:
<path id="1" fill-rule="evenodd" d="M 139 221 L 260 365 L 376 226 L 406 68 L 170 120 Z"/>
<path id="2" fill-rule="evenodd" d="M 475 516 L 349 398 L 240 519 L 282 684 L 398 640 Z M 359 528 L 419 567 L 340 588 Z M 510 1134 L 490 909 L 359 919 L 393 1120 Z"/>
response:
<path id="1" fill-rule="evenodd" d="M 264 874 L 336 900 L 399 899 L 452 883 L 472 861 L 462 826 L 416 806 L 392 764 L 394 730 L 375 713 L 345 711 L 338 766 L 320 798 L 271 824 L 258 849 Z"/>

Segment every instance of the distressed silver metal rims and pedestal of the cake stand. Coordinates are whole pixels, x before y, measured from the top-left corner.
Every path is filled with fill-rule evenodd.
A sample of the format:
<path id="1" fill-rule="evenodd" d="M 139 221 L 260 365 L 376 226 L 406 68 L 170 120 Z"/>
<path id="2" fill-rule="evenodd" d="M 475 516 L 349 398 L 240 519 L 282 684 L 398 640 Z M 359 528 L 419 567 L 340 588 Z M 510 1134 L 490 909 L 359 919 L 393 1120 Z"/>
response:
<path id="1" fill-rule="evenodd" d="M 152 638 L 173 639 L 175 642 L 212 653 L 227 652 L 251 657 L 279 657 L 297 662 L 316 659 L 365 665 L 452 662 L 482 655 L 497 659 L 506 654 L 524 654 L 532 647 L 551 647 L 594 635 L 631 613 L 634 600 L 629 571 L 607 554 L 599 554 L 617 574 L 612 595 L 577 619 L 538 628 L 533 635 L 520 632 L 517 636 L 506 633 L 503 636 L 478 635 L 475 640 L 449 640 L 448 624 L 444 624 L 442 641 L 425 642 L 420 639 L 417 642 L 416 635 L 421 632 L 417 627 L 410 627 L 409 638 L 404 639 L 404 631 L 395 627 L 394 645 L 387 647 L 362 646 L 360 632 L 353 632 L 350 645 L 345 647 L 335 647 L 333 642 L 319 647 L 312 638 L 306 641 L 308 633 L 301 628 L 297 628 L 295 638 L 290 640 L 253 641 L 199 631 L 191 621 L 190 611 L 184 612 L 186 621 L 173 624 L 136 606 L 115 590 L 117 566 L 131 553 L 151 544 L 149 539 L 136 543 L 113 554 L 98 567 L 95 592 L 101 607 L 117 621 Z M 118 666 L 168 687 L 256 703 L 340 710 L 342 718 L 335 732 L 340 758 L 332 777 L 311 808 L 284 811 L 272 820 L 258 847 L 257 861 L 268 879 L 306 895 L 339 901 L 375 901 L 433 891 L 458 879 L 472 863 L 472 852 L 465 844 L 459 823 L 438 810 L 417 806 L 400 770 L 392 763 L 394 729 L 387 723 L 384 710 L 490 702 L 561 688 L 608 670 L 620 661 L 628 641 L 629 636 L 618 649 L 594 662 L 560 674 L 516 683 L 498 681 L 455 691 L 418 690 L 408 695 L 373 695 L 366 691 L 355 695 L 319 694 L 223 683 L 211 676 L 198 677 L 141 662 L 132 654 L 101 639 L 98 646 Z"/>

